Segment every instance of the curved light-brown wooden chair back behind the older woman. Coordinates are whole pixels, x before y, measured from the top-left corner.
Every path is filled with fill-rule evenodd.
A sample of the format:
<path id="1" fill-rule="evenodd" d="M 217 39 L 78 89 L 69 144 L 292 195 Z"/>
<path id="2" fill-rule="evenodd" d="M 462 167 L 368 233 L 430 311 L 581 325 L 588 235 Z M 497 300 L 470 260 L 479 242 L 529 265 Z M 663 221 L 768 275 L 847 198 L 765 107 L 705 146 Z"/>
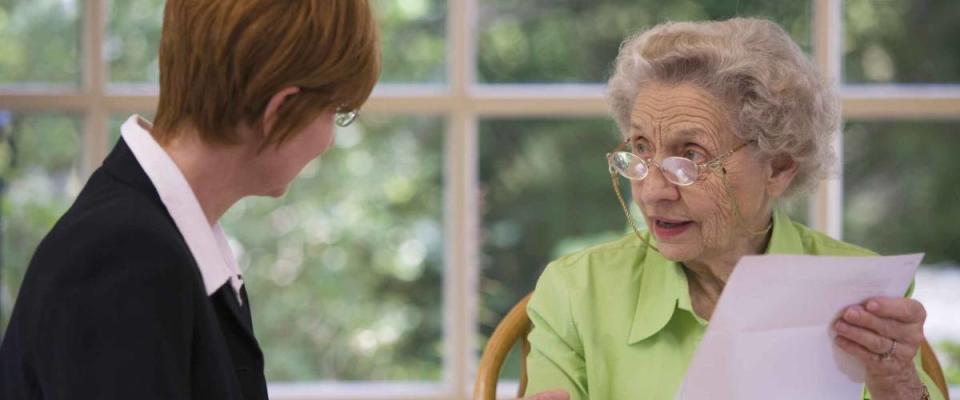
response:
<path id="1" fill-rule="evenodd" d="M 490 341 L 483 349 L 483 356 L 480 357 L 480 365 L 477 368 L 477 381 L 473 386 L 474 400 L 496 399 L 500 369 L 503 367 L 503 361 L 506 360 L 510 350 L 517 342 L 520 342 L 520 349 L 523 352 L 523 356 L 520 358 L 520 389 L 517 392 L 517 397 L 523 397 L 526 393 L 527 354 L 530 353 L 530 342 L 527 341 L 527 335 L 533 328 L 533 324 L 527 317 L 528 301 L 530 301 L 529 294 L 513 306 L 507 316 L 497 324 L 497 329 L 493 331 L 493 336 L 490 337 Z M 926 340 L 920 346 L 920 362 L 923 365 L 924 372 L 940 388 L 944 398 L 950 400 L 943 369 L 940 367 L 940 362 L 937 361 L 936 354 L 933 353 L 933 348 Z"/>

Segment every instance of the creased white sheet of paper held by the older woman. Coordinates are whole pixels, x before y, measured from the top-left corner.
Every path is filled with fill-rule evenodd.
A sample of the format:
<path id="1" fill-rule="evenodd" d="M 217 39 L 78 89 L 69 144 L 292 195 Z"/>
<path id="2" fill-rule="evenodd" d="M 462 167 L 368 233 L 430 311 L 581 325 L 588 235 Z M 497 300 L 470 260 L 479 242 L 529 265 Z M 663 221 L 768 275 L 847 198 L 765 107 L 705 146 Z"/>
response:
<path id="1" fill-rule="evenodd" d="M 833 344 L 831 325 L 870 297 L 903 296 L 922 258 L 744 257 L 677 398 L 860 398 L 863 365 Z"/>

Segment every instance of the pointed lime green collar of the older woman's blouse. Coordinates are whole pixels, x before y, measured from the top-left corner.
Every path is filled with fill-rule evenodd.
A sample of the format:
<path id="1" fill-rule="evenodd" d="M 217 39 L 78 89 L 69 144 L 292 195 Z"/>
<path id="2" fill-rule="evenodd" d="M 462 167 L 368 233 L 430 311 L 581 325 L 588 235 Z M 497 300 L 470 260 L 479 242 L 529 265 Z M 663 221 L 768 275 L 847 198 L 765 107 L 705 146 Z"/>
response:
<path id="1" fill-rule="evenodd" d="M 649 232 L 644 236 L 651 240 Z M 773 212 L 773 234 L 766 254 L 802 254 L 803 242 L 793 221 L 780 210 Z M 660 332 L 673 318 L 676 310 L 690 312 L 698 321 L 706 323 L 693 312 L 690 288 L 683 266 L 670 261 L 657 251 L 647 248 L 637 261 L 643 264 L 640 278 L 640 296 L 627 336 L 627 344 L 643 341 Z"/>

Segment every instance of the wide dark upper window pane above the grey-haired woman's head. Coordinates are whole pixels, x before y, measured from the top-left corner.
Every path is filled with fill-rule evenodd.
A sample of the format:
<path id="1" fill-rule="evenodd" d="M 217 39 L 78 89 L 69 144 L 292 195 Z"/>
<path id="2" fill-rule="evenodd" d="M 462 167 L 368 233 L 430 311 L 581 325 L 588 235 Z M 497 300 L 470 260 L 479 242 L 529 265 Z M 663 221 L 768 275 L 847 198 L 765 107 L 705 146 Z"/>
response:
<path id="1" fill-rule="evenodd" d="M 627 36 L 664 21 L 759 16 L 810 49 L 809 1 L 480 0 L 478 79 L 603 82 Z"/>

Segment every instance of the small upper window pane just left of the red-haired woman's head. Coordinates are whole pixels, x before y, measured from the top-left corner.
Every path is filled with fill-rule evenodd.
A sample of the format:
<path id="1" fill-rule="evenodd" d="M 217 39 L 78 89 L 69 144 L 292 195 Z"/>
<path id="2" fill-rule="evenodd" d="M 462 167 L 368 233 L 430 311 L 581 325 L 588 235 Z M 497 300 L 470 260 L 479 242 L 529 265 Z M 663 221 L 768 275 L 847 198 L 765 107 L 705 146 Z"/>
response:
<path id="1" fill-rule="evenodd" d="M 103 54 L 111 82 L 160 79 L 158 48 L 163 0 L 110 0 Z"/>

